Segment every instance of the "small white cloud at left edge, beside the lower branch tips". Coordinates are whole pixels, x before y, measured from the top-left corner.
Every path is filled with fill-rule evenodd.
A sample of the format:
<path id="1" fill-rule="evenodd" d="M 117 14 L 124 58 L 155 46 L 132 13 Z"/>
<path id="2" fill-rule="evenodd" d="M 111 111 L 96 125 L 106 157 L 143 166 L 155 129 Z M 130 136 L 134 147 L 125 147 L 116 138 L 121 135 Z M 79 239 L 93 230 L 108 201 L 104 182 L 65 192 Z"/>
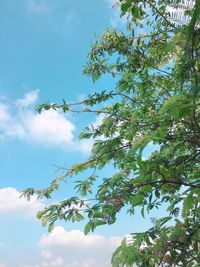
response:
<path id="1" fill-rule="evenodd" d="M 1 215 L 18 215 L 27 218 L 36 216 L 38 210 L 44 205 L 35 197 L 30 201 L 20 198 L 20 192 L 15 188 L 7 187 L 0 189 L 0 214 Z"/>

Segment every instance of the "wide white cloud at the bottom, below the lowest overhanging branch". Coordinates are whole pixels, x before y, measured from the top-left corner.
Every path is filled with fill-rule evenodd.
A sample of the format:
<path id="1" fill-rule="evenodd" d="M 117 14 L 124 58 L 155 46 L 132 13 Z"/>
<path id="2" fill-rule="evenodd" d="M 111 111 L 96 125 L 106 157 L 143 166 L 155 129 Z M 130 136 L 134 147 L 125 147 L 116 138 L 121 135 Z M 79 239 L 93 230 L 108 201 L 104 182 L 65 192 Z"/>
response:
<path id="1" fill-rule="evenodd" d="M 41 237 L 41 266 L 110 267 L 112 253 L 121 240 L 117 236 L 85 236 L 80 230 L 67 232 L 57 226 L 52 233 Z"/>

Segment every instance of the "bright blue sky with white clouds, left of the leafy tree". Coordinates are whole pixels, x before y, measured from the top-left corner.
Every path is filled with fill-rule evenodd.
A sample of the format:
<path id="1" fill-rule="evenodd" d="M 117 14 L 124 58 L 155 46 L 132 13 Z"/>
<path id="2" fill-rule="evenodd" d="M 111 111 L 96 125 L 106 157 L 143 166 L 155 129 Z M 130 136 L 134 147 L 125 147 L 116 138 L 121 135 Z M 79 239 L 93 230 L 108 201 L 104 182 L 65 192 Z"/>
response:
<path id="1" fill-rule="evenodd" d="M 27 187 L 45 188 L 58 166 L 87 159 L 92 143 L 78 140 L 99 118 L 34 108 L 77 101 L 113 80 L 93 84 L 82 75 L 87 52 L 108 27 L 124 28 L 111 0 L 0 1 L 0 267 L 109 267 L 130 232 L 151 226 L 122 212 L 116 224 L 84 236 L 82 223 L 58 222 L 52 233 L 35 215 L 43 200 L 19 198 Z M 109 175 L 111 168 L 104 174 Z M 60 195 L 59 195 L 60 194 Z M 55 200 L 72 194 L 66 186 Z"/>

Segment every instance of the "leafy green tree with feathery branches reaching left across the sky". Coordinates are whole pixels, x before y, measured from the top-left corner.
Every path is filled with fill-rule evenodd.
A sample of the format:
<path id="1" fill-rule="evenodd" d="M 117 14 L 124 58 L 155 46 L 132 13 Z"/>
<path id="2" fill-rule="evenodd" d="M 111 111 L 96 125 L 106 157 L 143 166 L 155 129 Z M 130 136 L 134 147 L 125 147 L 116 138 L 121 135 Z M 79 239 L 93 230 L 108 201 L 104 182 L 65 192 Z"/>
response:
<path id="1" fill-rule="evenodd" d="M 148 231 L 133 233 L 132 245 L 122 241 L 112 258 L 116 267 L 200 263 L 200 1 L 186 11 L 191 20 L 181 27 L 168 19 L 166 6 L 172 2 L 180 1 L 120 1 L 121 14 L 129 17 L 126 33 L 106 30 L 92 45 L 84 68 L 94 82 L 112 75 L 114 90 L 95 92 L 81 103 L 37 107 L 38 112 L 67 112 L 79 106 L 81 112 L 103 115 L 100 125 L 80 134 L 95 141 L 87 161 L 66 170 L 46 189 L 23 191 L 28 198 L 50 198 L 62 181 L 91 169 L 87 179 L 75 180 L 74 197 L 38 212 L 50 231 L 58 219 L 86 216 L 87 234 L 115 223 L 122 208 L 131 215 L 140 208 L 144 217 L 167 205 L 167 216 Z M 149 144 L 159 145 L 159 151 L 144 159 Z M 103 180 L 97 177 L 96 170 L 109 164 L 115 172 Z M 93 201 L 85 201 L 89 194 Z"/>

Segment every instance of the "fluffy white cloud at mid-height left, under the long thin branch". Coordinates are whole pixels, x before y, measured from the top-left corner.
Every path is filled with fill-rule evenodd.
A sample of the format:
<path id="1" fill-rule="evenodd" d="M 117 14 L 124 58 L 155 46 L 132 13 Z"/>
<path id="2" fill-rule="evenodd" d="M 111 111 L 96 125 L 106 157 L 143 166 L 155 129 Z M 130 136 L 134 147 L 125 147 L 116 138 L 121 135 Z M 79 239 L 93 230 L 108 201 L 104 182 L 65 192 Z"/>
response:
<path id="1" fill-rule="evenodd" d="M 90 152 L 91 141 L 75 138 L 75 125 L 56 110 L 38 114 L 33 106 L 39 91 L 32 90 L 12 103 L 0 102 L 0 141 L 19 139 L 31 144 Z"/>

